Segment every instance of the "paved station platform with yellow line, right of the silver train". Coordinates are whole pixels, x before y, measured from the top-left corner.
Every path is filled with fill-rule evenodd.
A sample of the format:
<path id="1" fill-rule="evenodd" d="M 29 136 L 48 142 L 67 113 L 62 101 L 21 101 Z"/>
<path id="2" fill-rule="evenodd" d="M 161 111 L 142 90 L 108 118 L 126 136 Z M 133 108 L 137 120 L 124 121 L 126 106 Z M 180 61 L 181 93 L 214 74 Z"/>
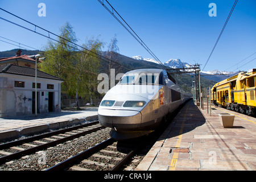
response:
<path id="1" fill-rule="evenodd" d="M 212 105 L 212 115 L 188 101 L 136 171 L 255 171 L 256 118 Z M 218 114 L 234 114 L 232 128 Z"/>

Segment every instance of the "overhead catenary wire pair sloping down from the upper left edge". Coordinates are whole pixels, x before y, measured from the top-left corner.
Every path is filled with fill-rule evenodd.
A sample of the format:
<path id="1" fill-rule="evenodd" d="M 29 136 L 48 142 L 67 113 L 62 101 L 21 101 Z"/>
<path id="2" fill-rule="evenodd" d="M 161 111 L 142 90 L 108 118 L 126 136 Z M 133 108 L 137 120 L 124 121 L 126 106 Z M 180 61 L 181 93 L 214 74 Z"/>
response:
<path id="1" fill-rule="evenodd" d="M 53 39 L 53 38 L 50 37 L 50 34 L 51 34 L 51 35 L 54 35 L 54 36 L 56 36 L 57 38 L 63 39 L 63 40 L 65 40 L 65 41 L 67 41 L 68 43 L 71 43 L 71 44 L 73 44 L 73 45 L 75 45 L 75 46 L 77 46 L 77 47 L 80 47 L 80 48 L 82 48 L 82 49 L 85 49 L 86 51 L 89 51 L 89 52 L 93 53 L 93 55 L 92 55 L 93 57 L 97 57 L 98 59 L 100 59 L 100 60 L 102 60 L 102 61 L 106 61 L 106 62 L 109 61 L 108 58 L 106 58 L 106 57 L 104 57 L 104 56 L 102 56 L 102 55 L 100 55 L 100 54 L 98 54 L 98 53 L 96 53 L 96 52 L 90 51 L 89 49 L 87 49 L 87 48 L 85 48 L 85 47 L 82 47 L 82 46 L 80 46 L 79 44 L 73 43 L 73 42 L 71 42 L 70 40 L 67 40 L 67 39 L 65 39 L 65 38 L 63 38 L 63 37 L 61 37 L 61 36 L 59 36 L 59 35 L 56 35 L 56 34 L 54 34 L 53 32 L 46 30 L 45 28 L 42 28 L 42 27 L 40 27 L 40 26 L 37 26 L 36 24 L 29 22 L 28 20 L 25 20 L 25 19 L 23 19 L 23 18 L 20 18 L 19 16 L 14 15 L 13 13 L 10 13 L 9 11 L 6 11 L 6 10 L 4 10 L 4 9 L 2 9 L 2 8 L 0 8 L 0 10 L 5 11 L 6 13 L 9 13 L 9 14 L 15 16 L 16 18 L 19 18 L 19 19 L 21 19 L 21 20 L 23 20 L 23 21 L 25 21 L 25 22 L 27 22 L 27 23 L 29 23 L 29 24 L 32 24 L 33 26 L 35 26 L 35 30 L 32 30 L 32 29 L 27 28 L 27 27 L 24 27 L 24 26 L 22 26 L 22 25 L 20 25 L 20 24 L 18 24 L 18 23 L 14 23 L 14 22 L 12 22 L 12 21 L 10 21 L 10 20 L 7 20 L 7 19 L 5 19 L 5 18 L 0 17 L 0 19 L 5 20 L 6 22 L 12 23 L 12 24 L 14 24 L 15 26 L 19 26 L 19 27 L 24 28 L 24 29 L 26 29 L 26 30 L 28 30 L 28 31 L 34 32 L 35 34 L 44 36 L 45 38 L 48 38 L 48 39 L 51 39 L 51 40 L 53 40 L 53 41 L 55 41 L 55 42 L 58 42 L 58 43 L 60 43 L 60 44 L 63 44 L 63 42 L 60 42 L 59 40 L 56 40 L 56 39 Z M 40 29 L 43 30 L 43 31 L 46 31 L 46 32 L 48 33 L 48 35 L 44 35 L 44 34 L 41 34 L 41 33 L 37 32 L 37 31 L 36 31 L 36 27 L 37 27 L 37 28 L 40 28 Z M 69 47 L 71 47 L 71 48 L 76 49 L 77 51 L 84 52 L 84 51 L 82 51 L 82 50 L 80 50 L 80 49 L 78 49 L 78 48 L 76 48 L 76 47 L 70 46 L 70 45 L 68 45 L 68 44 L 65 44 L 65 46 L 69 46 Z M 128 68 L 128 67 L 126 67 L 126 66 L 124 66 L 124 65 L 122 65 L 122 64 L 120 64 L 120 63 L 118 63 L 117 61 L 112 61 L 112 62 L 113 62 L 114 64 L 116 64 L 116 65 L 119 65 L 119 66 L 123 67 L 123 68 L 126 68 L 126 69 L 129 70 L 129 71 L 132 70 L 131 68 Z"/>

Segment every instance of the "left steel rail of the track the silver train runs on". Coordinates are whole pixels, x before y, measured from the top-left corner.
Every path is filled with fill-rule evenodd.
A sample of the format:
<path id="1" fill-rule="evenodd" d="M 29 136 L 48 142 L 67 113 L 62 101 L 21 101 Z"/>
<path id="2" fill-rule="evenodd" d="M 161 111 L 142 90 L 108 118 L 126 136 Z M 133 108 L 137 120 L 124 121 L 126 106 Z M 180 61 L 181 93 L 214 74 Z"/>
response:
<path id="1" fill-rule="evenodd" d="M 72 164 L 76 163 L 78 160 L 80 160 L 81 158 L 85 158 L 86 156 L 89 156 L 92 152 L 95 152 L 97 150 L 99 150 L 102 147 L 105 147 L 106 145 L 113 143 L 114 139 L 109 138 L 107 140 L 105 140 L 104 142 L 101 142 L 99 144 L 97 144 L 96 146 L 90 147 L 87 150 L 73 156 L 72 158 L 69 158 L 67 160 L 64 160 L 63 162 L 56 164 L 55 166 L 52 166 L 48 169 L 46 169 L 46 171 L 60 171 L 63 170 L 69 166 L 71 166 Z"/>

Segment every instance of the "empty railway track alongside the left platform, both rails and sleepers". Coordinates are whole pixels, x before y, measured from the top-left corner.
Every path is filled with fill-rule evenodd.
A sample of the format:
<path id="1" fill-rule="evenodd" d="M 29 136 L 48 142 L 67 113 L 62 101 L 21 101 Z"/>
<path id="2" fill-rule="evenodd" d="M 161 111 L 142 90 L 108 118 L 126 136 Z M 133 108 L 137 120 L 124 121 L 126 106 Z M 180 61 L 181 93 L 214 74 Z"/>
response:
<path id="1" fill-rule="evenodd" d="M 33 154 L 36 151 L 56 146 L 56 144 L 66 142 L 101 129 L 104 129 L 104 127 L 98 125 L 98 121 L 95 121 L 84 125 L 73 126 L 67 129 L 36 135 L 35 137 L 3 143 L 0 145 L 0 164 L 9 162 L 10 160 L 19 159 L 22 156 Z"/>

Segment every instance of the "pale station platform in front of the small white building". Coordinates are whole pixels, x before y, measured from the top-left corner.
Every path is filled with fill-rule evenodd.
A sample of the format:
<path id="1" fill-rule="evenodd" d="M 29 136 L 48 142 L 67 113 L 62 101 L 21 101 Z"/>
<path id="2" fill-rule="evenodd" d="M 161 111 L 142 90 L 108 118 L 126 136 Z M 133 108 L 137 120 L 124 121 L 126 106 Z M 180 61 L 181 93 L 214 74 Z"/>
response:
<path id="1" fill-rule="evenodd" d="M 45 130 L 74 125 L 98 117 L 98 107 L 86 107 L 85 110 L 63 110 L 35 115 L 0 118 L 0 142 Z"/>

